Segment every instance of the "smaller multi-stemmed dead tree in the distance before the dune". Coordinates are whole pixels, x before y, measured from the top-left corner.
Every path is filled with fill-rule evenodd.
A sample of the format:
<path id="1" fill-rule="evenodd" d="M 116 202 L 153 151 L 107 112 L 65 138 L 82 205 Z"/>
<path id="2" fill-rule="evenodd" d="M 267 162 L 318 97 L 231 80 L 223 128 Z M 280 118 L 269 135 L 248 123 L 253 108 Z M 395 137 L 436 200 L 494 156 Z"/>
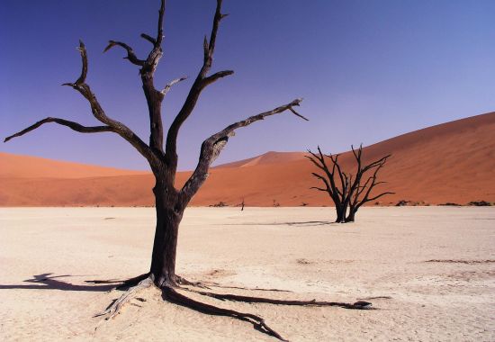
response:
<path id="1" fill-rule="evenodd" d="M 315 172 L 312 175 L 320 179 L 324 186 L 312 186 L 311 189 L 329 193 L 337 211 L 337 220 L 335 221 L 339 223 L 354 222 L 356 212 L 363 204 L 374 201 L 385 194 L 391 194 L 391 192 L 385 192 L 370 196 L 376 185 L 385 183 L 377 182 L 377 175 L 391 155 L 375 160 L 368 165 L 363 165 L 363 145 L 359 146 L 357 150 L 354 146 L 351 146 L 351 148 L 356 159 L 354 175 L 342 170 L 342 167 L 338 164 L 339 155 L 325 155 L 321 152 L 320 146 L 318 147 L 318 154 L 308 149 L 311 156 L 305 156 L 323 171 L 321 175 Z"/>

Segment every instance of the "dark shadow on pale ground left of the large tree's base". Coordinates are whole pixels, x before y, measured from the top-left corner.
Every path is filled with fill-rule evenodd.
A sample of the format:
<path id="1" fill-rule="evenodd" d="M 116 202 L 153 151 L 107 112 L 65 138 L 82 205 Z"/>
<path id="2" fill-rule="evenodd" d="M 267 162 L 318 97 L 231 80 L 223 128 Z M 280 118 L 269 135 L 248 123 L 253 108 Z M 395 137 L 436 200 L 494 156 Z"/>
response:
<path id="1" fill-rule="evenodd" d="M 75 275 L 53 275 L 51 273 L 33 275 L 32 279 L 26 279 L 23 281 L 24 283 L 31 283 L 31 284 L 14 284 L 14 285 L 0 284 L 0 290 L 25 289 L 25 290 L 106 292 L 112 290 L 115 287 L 115 284 L 119 283 L 119 281 L 115 281 L 112 283 L 108 282 L 108 284 L 104 284 L 104 285 L 77 285 L 59 280 L 59 278 L 64 278 L 68 276 L 75 276 Z"/>

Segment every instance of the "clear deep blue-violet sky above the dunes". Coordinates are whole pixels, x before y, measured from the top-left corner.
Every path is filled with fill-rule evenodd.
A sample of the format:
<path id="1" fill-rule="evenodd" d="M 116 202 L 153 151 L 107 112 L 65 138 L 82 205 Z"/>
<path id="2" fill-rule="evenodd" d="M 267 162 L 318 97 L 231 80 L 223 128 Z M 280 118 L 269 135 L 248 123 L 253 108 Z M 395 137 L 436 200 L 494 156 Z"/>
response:
<path id="1" fill-rule="evenodd" d="M 148 111 L 139 57 L 155 35 L 158 0 L 3 0 L 0 4 L 0 135 L 47 116 L 97 125 L 88 103 L 62 87 L 80 73 L 85 41 L 87 82 L 109 116 L 148 141 Z M 164 57 L 157 86 L 190 76 L 167 94 L 169 124 L 202 65 L 214 0 L 167 0 Z M 195 166 L 203 139 L 257 112 L 304 97 L 302 121 L 290 112 L 238 130 L 217 163 L 269 150 L 320 144 L 347 150 L 410 130 L 495 111 L 495 1 L 225 0 L 212 71 L 234 69 L 203 92 L 179 138 L 180 168 Z M 147 169 L 144 158 L 112 133 L 81 134 L 47 124 L 0 151 Z"/>

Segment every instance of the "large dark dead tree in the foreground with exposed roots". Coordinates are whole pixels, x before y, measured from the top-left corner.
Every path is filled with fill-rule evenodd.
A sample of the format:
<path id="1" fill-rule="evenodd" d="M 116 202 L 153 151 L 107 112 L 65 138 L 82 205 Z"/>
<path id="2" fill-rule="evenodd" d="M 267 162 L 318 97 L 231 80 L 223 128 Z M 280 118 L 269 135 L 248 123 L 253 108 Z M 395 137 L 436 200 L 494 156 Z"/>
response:
<path id="1" fill-rule="evenodd" d="M 246 120 L 232 123 L 225 129 L 211 135 L 210 138 L 205 139 L 202 142 L 199 161 L 193 171 L 193 174 L 185 182 L 182 188 L 175 188 L 175 175 L 177 172 L 178 161 L 177 137 L 179 130 L 181 129 L 184 121 L 186 121 L 192 114 L 202 91 L 208 85 L 220 80 L 220 78 L 230 76 L 234 73 L 232 70 L 223 70 L 210 75 L 211 65 L 213 62 L 213 53 L 217 42 L 217 32 L 219 31 L 220 22 L 227 16 L 227 14 L 221 14 L 220 12 L 221 3 L 221 0 L 217 0 L 216 10 L 212 20 L 210 38 L 208 39 L 205 36 L 203 40 L 202 67 L 198 75 L 193 80 L 193 85 L 191 85 L 184 104 L 175 115 L 174 120 L 166 132 L 166 136 L 164 135 L 164 128 L 162 124 L 162 102 L 171 87 L 181 81 L 184 81 L 186 77 L 176 78 L 163 88 L 157 87 L 154 82 L 155 70 L 157 69 L 158 62 L 163 55 L 162 40 L 164 38 L 163 21 L 165 15 L 165 0 L 161 0 L 160 9 L 158 11 L 156 35 L 150 36 L 146 33 L 142 33 L 140 35 L 144 40 L 148 40 L 151 44 L 151 49 L 146 58 L 138 58 L 134 50 L 128 44 L 116 40 L 110 40 L 108 46 L 103 51 L 106 52 L 114 47 L 124 49 L 126 52 L 125 59 L 129 60 L 129 62 L 136 67 L 139 67 L 139 76 L 141 78 L 142 88 L 148 104 L 150 130 L 148 144 L 140 139 L 139 136 L 130 130 L 130 128 L 124 123 L 113 120 L 107 115 L 106 112 L 104 112 L 103 107 L 99 103 L 95 94 L 86 83 L 88 58 L 85 44 L 82 41 L 79 41 L 79 47 L 77 48 L 82 58 L 81 74 L 74 83 L 66 83 L 64 85 L 74 88 L 78 93 L 85 97 L 90 105 L 94 118 L 97 121 L 100 121 L 102 125 L 86 127 L 74 121 L 49 117 L 34 123 L 28 128 L 21 130 L 10 137 L 7 137 L 4 141 L 22 136 L 31 130 L 39 128 L 45 123 L 55 122 L 81 133 L 116 133 L 121 136 L 122 139 L 128 141 L 131 146 L 136 148 L 138 152 L 148 160 L 148 164 L 151 167 L 156 180 L 155 186 L 153 187 L 153 193 L 155 194 L 157 215 L 156 232 L 153 243 L 153 252 L 151 255 L 151 266 L 149 268 L 149 272 L 146 274 L 139 275 L 121 284 L 121 286 L 129 288 L 129 291 L 122 294 L 119 300 L 114 302 L 107 311 L 103 312 L 103 315 L 105 315 L 107 319 L 116 315 L 120 311 L 121 306 L 125 302 L 128 302 L 132 295 L 137 293 L 140 289 L 155 285 L 163 291 L 163 297 L 167 301 L 175 302 L 187 306 L 193 310 L 202 311 L 209 314 L 224 315 L 239 320 L 247 320 L 253 323 L 257 329 L 260 329 L 275 338 L 284 339 L 277 332 L 275 332 L 275 330 L 270 329 L 266 325 L 265 320 L 256 315 L 221 309 L 210 304 L 197 302 L 177 291 L 177 289 L 184 290 L 184 285 L 198 285 L 197 283 L 188 282 L 184 280 L 184 278 L 175 274 L 175 255 L 178 229 L 183 218 L 184 209 L 208 177 L 211 163 L 220 155 L 221 150 L 225 148 L 229 138 L 234 136 L 235 130 L 246 127 L 253 122 L 264 120 L 270 115 L 275 115 L 282 112 L 293 112 L 293 114 L 298 117 L 307 120 L 294 109 L 294 107 L 300 105 L 302 99 L 295 99 L 290 103 L 286 103 L 270 111 L 261 112 L 257 115 L 248 117 Z M 207 295 L 216 296 L 215 298 L 220 299 L 222 299 L 221 296 L 224 296 L 225 298 L 223 299 L 228 299 L 230 301 L 272 302 L 275 304 L 287 305 L 295 305 L 296 303 L 297 305 L 336 305 L 350 309 L 366 308 L 366 305 L 360 302 L 356 302 L 354 304 L 313 301 L 293 302 L 274 301 L 259 297 L 231 296 L 219 293 L 209 293 Z"/>

